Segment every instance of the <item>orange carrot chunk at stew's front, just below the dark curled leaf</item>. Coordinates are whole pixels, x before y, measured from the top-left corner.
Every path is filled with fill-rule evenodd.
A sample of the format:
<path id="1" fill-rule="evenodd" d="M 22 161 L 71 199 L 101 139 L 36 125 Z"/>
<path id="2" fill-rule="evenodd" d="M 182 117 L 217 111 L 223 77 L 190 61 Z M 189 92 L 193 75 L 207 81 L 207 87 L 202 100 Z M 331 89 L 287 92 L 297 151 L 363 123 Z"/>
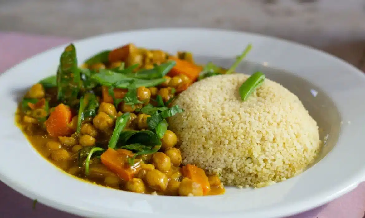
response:
<path id="1" fill-rule="evenodd" d="M 132 156 L 131 151 L 125 149 L 114 150 L 108 148 L 100 159 L 101 163 L 104 164 L 109 170 L 117 174 L 124 181 L 129 181 L 141 170 L 140 165 L 137 167 L 131 167 L 128 165 L 127 157 Z"/>

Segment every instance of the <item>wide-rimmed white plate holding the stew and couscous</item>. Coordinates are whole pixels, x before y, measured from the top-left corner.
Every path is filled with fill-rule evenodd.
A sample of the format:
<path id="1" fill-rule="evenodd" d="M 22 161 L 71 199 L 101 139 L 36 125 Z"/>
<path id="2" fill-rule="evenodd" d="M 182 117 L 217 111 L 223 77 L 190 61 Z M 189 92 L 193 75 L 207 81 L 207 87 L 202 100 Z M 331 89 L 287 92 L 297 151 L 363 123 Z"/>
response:
<path id="1" fill-rule="evenodd" d="M 233 59 L 247 43 L 252 43 L 253 50 L 247 59 L 260 64 L 266 62 L 269 68 L 261 67 L 261 70 L 269 78 L 278 79 L 288 86 L 294 84 L 289 89 L 307 98 L 302 100 L 311 107 L 310 112 L 320 112 L 315 117 L 324 118 L 321 122 L 332 140 L 325 152 L 329 151 L 328 154 L 292 179 L 258 190 L 228 188 L 227 193 L 220 196 L 143 195 L 82 182 L 43 159 L 14 125 L 17 102 L 31 84 L 54 74 L 65 47 L 60 46 L 20 63 L 0 77 L 0 179 L 4 183 L 51 207 L 93 218 L 146 215 L 150 218 L 274 218 L 322 205 L 349 192 L 362 181 L 365 175 L 365 75 L 353 66 L 299 44 L 222 30 L 119 32 L 80 40 L 75 46 L 81 62 L 98 51 L 128 42 L 172 53 L 192 51 L 197 56 L 213 57 L 213 60 Z M 276 75 L 279 71 L 270 67 L 284 69 L 290 74 Z M 311 83 L 305 83 L 295 75 Z M 319 87 L 316 89 L 317 97 L 308 94 L 315 87 Z M 310 102 L 315 104 L 308 105 Z M 327 109 L 328 114 L 325 113 Z M 339 124 L 339 119 L 342 119 L 343 125 Z M 351 123 L 348 124 L 348 121 Z"/>

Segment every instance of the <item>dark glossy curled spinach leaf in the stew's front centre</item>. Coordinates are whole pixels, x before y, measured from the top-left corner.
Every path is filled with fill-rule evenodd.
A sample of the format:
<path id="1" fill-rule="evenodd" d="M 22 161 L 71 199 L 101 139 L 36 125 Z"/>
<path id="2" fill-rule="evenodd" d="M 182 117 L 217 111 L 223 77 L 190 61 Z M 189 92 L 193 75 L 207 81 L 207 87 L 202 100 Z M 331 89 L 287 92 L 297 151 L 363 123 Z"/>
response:
<path id="1" fill-rule="evenodd" d="M 143 145 L 143 146 L 142 146 Z M 157 152 L 161 148 L 160 138 L 151 131 L 123 131 L 120 133 L 119 148 L 137 151 L 133 157 L 128 157 L 128 163 L 134 164 L 138 155 L 147 155 Z"/>

